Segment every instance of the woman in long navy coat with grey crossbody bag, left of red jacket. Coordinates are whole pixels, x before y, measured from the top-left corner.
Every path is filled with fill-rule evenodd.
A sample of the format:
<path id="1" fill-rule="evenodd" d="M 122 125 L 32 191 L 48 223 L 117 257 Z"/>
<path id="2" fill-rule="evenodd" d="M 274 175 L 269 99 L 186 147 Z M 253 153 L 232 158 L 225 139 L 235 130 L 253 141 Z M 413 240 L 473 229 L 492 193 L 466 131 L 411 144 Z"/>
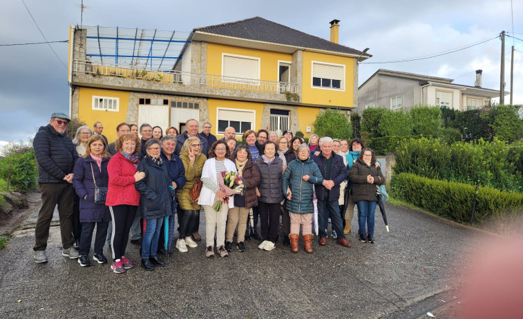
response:
<path id="1" fill-rule="evenodd" d="M 86 144 L 86 153 L 78 158 L 75 164 L 73 185 L 77 196 L 80 198 L 79 220 L 82 223 L 78 263 L 82 267 L 91 266 L 89 251 L 91 250 L 91 240 L 95 227 L 95 254 L 93 254 L 93 258 L 99 264 L 107 263 L 107 258 L 104 256 L 104 243 L 107 236 L 107 223 L 111 220 L 111 216 L 105 203 L 95 203 L 95 187 L 107 187 L 109 183 L 107 164 L 110 157 L 104 138 L 95 135 L 89 138 Z"/>

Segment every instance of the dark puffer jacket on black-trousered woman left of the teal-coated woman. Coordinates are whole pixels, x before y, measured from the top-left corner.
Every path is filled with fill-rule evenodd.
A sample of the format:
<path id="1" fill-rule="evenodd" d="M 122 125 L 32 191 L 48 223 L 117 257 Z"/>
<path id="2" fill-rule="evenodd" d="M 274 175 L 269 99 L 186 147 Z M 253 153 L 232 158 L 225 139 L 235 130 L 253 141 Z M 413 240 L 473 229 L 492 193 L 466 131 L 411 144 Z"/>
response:
<path id="1" fill-rule="evenodd" d="M 258 191 L 261 196 L 258 201 L 267 204 L 280 203 L 283 200 L 281 192 L 281 179 L 283 176 L 283 161 L 278 156 L 269 165 L 260 157 L 256 160 L 256 166 L 260 171 L 260 185 Z"/>

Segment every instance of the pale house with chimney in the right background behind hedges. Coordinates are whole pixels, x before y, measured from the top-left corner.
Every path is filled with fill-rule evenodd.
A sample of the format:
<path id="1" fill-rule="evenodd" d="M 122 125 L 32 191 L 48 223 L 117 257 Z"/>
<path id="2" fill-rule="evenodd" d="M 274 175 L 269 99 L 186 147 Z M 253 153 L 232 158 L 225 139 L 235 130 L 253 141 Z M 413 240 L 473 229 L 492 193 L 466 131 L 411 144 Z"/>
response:
<path id="1" fill-rule="evenodd" d="M 465 111 L 482 107 L 500 96 L 499 90 L 482 88 L 482 70 L 476 71 L 474 86 L 453 79 L 379 69 L 358 88 L 358 112 L 368 107 L 390 110 L 413 105 L 438 105 Z"/>

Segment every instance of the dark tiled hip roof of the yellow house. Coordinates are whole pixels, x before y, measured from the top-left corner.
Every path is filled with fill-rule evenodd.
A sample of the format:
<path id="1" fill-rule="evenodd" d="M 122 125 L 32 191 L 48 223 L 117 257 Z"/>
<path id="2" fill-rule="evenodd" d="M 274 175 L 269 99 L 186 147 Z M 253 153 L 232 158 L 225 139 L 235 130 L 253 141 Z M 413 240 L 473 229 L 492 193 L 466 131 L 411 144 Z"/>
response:
<path id="1" fill-rule="evenodd" d="M 227 37 L 292 45 L 301 48 L 340 52 L 344 54 L 361 54 L 366 57 L 372 56 L 368 53 L 363 53 L 359 50 L 346 47 L 345 45 L 321 39 L 320 37 L 314 37 L 313 35 L 261 17 L 254 17 L 218 25 L 209 25 L 207 27 L 196 28 L 193 32 L 206 32 Z"/>

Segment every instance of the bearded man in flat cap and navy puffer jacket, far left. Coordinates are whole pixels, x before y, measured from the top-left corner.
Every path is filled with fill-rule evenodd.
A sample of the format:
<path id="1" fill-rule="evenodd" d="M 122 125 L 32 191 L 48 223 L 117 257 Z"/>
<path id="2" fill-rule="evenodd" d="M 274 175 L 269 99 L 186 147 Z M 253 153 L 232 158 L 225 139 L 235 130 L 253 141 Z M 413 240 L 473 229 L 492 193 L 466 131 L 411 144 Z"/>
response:
<path id="1" fill-rule="evenodd" d="M 41 208 L 35 227 L 35 261 L 46 263 L 49 227 L 55 206 L 60 216 L 61 255 L 78 258 L 73 248 L 75 238 L 71 234 L 73 198 L 73 166 L 78 157 L 73 141 L 66 135 L 69 117 L 61 112 L 53 113 L 49 124 L 41 126 L 32 142 L 38 162 L 38 184 L 41 192 Z"/>

